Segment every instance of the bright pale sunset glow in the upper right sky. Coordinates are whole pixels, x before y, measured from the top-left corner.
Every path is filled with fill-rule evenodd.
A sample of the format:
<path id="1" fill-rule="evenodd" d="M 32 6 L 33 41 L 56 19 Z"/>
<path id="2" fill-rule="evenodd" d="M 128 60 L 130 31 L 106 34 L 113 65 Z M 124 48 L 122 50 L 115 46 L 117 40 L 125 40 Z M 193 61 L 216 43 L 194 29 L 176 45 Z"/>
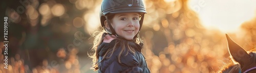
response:
<path id="1" fill-rule="evenodd" d="M 241 23 L 255 16 L 255 3 L 252 0 L 194 0 L 188 5 L 198 13 L 203 26 L 226 33 L 238 31 Z"/>

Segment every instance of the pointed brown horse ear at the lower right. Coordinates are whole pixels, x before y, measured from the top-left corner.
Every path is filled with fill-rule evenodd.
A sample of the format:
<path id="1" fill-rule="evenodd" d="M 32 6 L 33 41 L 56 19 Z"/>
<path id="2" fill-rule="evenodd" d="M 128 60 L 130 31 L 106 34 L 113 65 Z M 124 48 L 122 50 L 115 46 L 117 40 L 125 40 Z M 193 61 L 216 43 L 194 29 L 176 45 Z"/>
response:
<path id="1" fill-rule="evenodd" d="M 229 54 L 233 57 L 235 61 L 238 63 L 245 63 L 247 59 L 250 58 L 250 55 L 247 54 L 247 52 L 238 45 L 236 42 L 234 42 L 228 34 L 226 34 L 227 42 L 228 42 L 228 51 Z"/>

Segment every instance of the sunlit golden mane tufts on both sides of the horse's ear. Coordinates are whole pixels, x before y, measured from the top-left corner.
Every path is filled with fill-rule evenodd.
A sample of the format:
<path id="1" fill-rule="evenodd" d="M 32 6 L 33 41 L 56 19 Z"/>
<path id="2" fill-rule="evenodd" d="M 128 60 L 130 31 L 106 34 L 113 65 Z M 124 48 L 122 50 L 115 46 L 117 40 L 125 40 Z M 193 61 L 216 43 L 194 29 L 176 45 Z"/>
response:
<path id="1" fill-rule="evenodd" d="M 253 45 L 253 47 L 250 49 L 250 51 L 247 51 L 247 53 L 256 53 L 256 45 Z M 234 59 L 231 57 L 229 62 L 224 63 L 224 65 L 221 67 L 221 69 L 218 72 L 229 72 L 233 68 L 240 68 L 240 64 L 234 61 Z"/>

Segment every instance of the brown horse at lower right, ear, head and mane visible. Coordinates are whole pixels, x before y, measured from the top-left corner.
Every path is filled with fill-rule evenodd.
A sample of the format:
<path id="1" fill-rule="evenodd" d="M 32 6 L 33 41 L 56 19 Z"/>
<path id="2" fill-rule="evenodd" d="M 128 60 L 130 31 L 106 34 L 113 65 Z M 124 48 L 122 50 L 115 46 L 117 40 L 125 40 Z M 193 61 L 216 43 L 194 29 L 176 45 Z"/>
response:
<path id="1" fill-rule="evenodd" d="M 256 51 L 246 52 L 243 47 L 234 42 L 226 34 L 230 62 L 223 66 L 218 72 L 222 73 L 255 73 L 256 72 Z"/>

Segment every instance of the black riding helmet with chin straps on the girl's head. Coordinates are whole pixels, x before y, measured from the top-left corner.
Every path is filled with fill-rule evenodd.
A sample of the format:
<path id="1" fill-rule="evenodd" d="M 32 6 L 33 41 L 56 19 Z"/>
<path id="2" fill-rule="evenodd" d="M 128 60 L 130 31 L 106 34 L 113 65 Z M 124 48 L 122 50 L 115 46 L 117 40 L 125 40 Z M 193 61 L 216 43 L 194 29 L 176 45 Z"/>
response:
<path id="1" fill-rule="evenodd" d="M 100 9 L 100 23 L 101 27 L 105 29 L 104 21 L 108 19 L 109 15 L 112 15 L 114 13 L 126 13 L 126 12 L 138 12 L 141 13 L 141 18 L 140 18 L 140 28 L 139 31 L 142 27 L 143 19 L 144 19 L 144 14 L 146 13 L 145 6 L 143 4 L 142 0 L 103 0 L 101 3 L 101 9 Z M 107 20 L 108 24 L 110 24 L 110 21 Z M 115 30 L 111 25 L 110 26 L 110 31 L 107 31 L 109 34 L 116 35 Z M 137 33 L 138 34 L 138 33 Z M 134 38 L 137 37 L 137 34 L 135 35 Z"/>

